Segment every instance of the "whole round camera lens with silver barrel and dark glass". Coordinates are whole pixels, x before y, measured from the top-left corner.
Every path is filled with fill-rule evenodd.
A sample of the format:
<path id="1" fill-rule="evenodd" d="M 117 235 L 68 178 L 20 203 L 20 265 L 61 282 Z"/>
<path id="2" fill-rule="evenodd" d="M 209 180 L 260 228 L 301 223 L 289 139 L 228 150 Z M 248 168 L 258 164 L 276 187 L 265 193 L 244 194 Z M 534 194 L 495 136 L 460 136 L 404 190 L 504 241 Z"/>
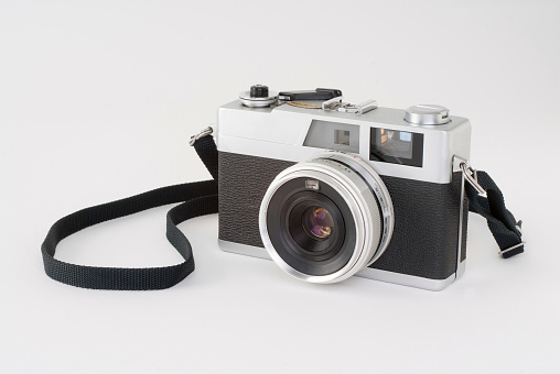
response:
<path id="1" fill-rule="evenodd" d="M 270 257 L 312 283 L 340 282 L 373 264 L 387 249 L 392 227 L 383 179 L 367 162 L 345 153 L 321 154 L 281 172 L 259 211 Z"/>

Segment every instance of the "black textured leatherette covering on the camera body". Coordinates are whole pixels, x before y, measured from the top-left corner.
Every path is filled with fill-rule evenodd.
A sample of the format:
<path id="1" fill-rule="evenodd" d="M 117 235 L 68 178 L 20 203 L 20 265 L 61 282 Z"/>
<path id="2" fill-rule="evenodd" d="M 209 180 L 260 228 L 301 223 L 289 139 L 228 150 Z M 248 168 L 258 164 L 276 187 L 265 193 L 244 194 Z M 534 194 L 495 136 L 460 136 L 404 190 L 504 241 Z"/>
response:
<path id="1" fill-rule="evenodd" d="M 219 152 L 218 220 L 220 240 L 263 248 L 260 202 L 274 177 L 292 162 Z M 381 176 L 395 208 L 389 246 L 370 267 L 431 279 L 445 279 L 457 263 L 461 172 L 450 184 Z M 461 261 L 466 257 L 469 202 L 464 198 Z"/>

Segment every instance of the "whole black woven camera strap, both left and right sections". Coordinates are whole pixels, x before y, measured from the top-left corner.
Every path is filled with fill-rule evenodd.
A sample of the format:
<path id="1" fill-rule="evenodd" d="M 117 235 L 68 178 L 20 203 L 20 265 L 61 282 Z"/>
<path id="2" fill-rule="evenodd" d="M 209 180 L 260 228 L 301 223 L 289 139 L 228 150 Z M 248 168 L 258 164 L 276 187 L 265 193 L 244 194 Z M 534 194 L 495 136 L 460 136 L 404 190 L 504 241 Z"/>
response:
<path id="1" fill-rule="evenodd" d="M 191 145 L 211 173 L 213 180 L 187 183 L 158 188 L 144 194 L 89 207 L 56 221 L 41 245 L 46 275 L 71 286 L 93 289 L 149 290 L 172 287 L 194 271 L 191 243 L 177 224 L 200 216 L 218 211 L 218 153 L 212 130 L 205 129 L 193 136 Z M 478 183 L 487 198 L 477 195 L 469 184 L 470 210 L 488 221 L 488 227 L 507 258 L 524 252 L 520 221 L 506 209 L 504 198 L 496 184 L 484 172 L 478 172 Z M 133 215 L 142 210 L 182 202 L 166 215 L 166 237 L 183 256 L 184 262 L 162 267 L 98 267 L 66 263 L 54 257 L 56 245 L 65 238 L 97 223 Z"/>

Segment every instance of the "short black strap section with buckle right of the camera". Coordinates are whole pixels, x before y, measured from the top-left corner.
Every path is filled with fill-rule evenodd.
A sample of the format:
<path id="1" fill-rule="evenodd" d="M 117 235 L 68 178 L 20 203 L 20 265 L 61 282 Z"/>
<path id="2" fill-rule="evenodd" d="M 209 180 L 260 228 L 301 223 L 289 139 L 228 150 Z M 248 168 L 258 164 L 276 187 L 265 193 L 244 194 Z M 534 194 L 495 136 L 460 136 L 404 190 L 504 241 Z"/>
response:
<path id="1" fill-rule="evenodd" d="M 507 210 L 502 191 L 486 172 L 477 172 L 477 178 L 487 197 L 480 196 L 474 187 L 466 183 L 469 210 L 486 219 L 504 258 L 523 253 L 525 243 L 521 240 L 521 221 L 517 221 Z"/>

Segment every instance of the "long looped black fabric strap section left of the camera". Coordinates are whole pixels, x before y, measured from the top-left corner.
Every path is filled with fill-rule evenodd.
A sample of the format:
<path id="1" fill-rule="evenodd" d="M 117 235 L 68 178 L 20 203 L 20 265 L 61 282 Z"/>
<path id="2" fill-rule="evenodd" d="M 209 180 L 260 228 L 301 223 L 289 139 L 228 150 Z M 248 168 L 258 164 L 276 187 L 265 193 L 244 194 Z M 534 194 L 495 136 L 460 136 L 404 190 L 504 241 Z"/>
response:
<path id="1" fill-rule="evenodd" d="M 217 151 L 212 136 L 201 138 L 194 147 L 214 180 L 158 188 L 126 199 L 86 208 L 56 221 L 49 231 L 41 252 L 46 274 L 58 282 L 94 289 L 163 289 L 174 286 L 194 271 L 191 243 L 176 227 L 193 217 L 216 213 Z M 56 245 L 68 235 L 90 226 L 169 204 L 183 204 L 168 212 L 168 240 L 184 262 L 164 267 L 122 268 L 76 265 L 54 258 Z"/>

